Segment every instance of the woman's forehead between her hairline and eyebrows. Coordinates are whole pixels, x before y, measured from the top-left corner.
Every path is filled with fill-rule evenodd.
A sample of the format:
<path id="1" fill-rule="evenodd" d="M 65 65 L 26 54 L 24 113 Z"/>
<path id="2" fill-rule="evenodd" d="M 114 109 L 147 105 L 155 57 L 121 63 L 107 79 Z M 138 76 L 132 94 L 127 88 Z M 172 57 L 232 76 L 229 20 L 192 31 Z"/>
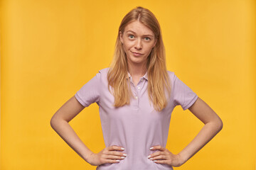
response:
<path id="1" fill-rule="evenodd" d="M 124 33 L 127 33 L 129 30 L 132 30 L 134 33 L 137 33 L 139 35 L 154 35 L 153 31 L 150 28 L 140 23 L 139 21 L 133 21 L 132 23 L 129 23 L 124 28 Z"/>

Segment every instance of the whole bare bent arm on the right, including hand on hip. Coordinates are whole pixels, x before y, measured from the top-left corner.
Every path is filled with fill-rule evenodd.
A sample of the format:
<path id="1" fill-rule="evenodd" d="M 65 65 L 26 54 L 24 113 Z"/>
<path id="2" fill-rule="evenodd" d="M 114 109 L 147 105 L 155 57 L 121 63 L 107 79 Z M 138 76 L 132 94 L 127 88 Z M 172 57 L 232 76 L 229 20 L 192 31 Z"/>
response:
<path id="1" fill-rule="evenodd" d="M 159 152 L 150 154 L 148 157 L 150 160 L 159 164 L 181 166 L 223 128 L 222 120 L 201 98 L 198 97 L 188 110 L 205 124 L 198 135 L 178 154 L 171 153 L 161 145 L 151 147 L 151 150 L 159 150 Z"/>

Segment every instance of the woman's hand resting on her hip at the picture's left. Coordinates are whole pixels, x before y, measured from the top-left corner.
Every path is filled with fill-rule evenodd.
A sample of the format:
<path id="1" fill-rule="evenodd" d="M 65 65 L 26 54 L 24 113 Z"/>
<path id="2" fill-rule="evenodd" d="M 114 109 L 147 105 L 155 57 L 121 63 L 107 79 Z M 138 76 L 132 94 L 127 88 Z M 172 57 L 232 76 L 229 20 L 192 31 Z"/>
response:
<path id="1" fill-rule="evenodd" d="M 92 153 L 90 154 L 86 162 L 93 166 L 98 166 L 100 164 L 106 164 L 106 163 L 117 163 L 120 162 L 120 160 L 124 159 L 127 154 L 124 154 L 122 152 L 117 152 L 117 151 L 123 151 L 122 147 L 118 146 L 110 146 L 110 147 L 105 147 L 100 151 L 99 153 L 95 154 Z"/>

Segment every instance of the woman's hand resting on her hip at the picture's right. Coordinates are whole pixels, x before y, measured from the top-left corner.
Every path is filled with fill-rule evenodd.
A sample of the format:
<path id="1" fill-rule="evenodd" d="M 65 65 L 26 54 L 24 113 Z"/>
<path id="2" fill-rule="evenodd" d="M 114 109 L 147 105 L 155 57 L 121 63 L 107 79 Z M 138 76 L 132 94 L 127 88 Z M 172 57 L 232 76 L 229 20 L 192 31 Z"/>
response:
<path id="1" fill-rule="evenodd" d="M 181 166 L 185 163 L 181 155 L 173 154 L 168 149 L 161 147 L 160 145 L 154 146 L 151 150 L 160 150 L 160 152 L 154 152 L 148 157 L 151 161 L 154 161 L 159 164 L 168 164 L 170 166 Z"/>

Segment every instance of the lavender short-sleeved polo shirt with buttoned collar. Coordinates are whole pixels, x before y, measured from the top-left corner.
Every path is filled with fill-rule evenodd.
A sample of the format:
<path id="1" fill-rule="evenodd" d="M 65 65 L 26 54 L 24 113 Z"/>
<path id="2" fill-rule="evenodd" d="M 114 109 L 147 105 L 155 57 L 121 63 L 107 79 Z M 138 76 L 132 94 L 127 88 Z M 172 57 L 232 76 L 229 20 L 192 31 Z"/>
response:
<path id="1" fill-rule="evenodd" d="M 168 71 L 171 79 L 171 98 L 162 111 L 154 110 L 149 104 L 147 94 L 147 74 L 141 77 L 134 86 L 129 75 L 132 93 L 130 104 L 114 108 L 114 96 L 110 94 L 107 84 L 107 71 L 101 69 L 95 77 L 90 79 L 77 91 L 75 98 L 82 106 L 97 103 L 100 111 L 100 121 L 106 147 L 117 145 L 124 147 L 127 157 L 117 163 L 107 163 L 97 166 L 97 170 L 153 170 L 173 169 L 167 164 L 157 164 L 147 157 L 156 151 L 149 148 L 154 145 L 166 147 L 171 113 L 175 106 L 181 105 L 186 110 L 196 101 L 198 96 L 184 84 L 174 72 Z M 102 148 L 103 149 L 103 148 Z"/>

